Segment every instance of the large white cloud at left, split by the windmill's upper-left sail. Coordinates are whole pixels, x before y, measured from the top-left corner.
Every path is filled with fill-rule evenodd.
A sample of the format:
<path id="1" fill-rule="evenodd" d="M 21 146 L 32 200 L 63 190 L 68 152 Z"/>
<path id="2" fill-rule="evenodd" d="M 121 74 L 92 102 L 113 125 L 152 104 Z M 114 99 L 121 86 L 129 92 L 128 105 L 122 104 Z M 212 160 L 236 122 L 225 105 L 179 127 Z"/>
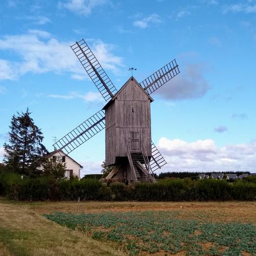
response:
<path id="1" fill-rule="evenodd" d="M 20 61 L 0 59 L 0 80 L 13 80 L 29 72 L 69 72 L 74 79 L 84 79 L 88 76 L 70 48 L 73 44 L 74 42 L 59 41 L 50 33 L 40 30 L 30 30 L 21 35 L 6 35 L 0 38 L 0 50 L 9 50 Z M 92 41 L 92 51 L 102 67 L 120 73 L 122 58 L 115 56 L 111 52 L 113 49 L 114 46 L 100 40 Z"/>

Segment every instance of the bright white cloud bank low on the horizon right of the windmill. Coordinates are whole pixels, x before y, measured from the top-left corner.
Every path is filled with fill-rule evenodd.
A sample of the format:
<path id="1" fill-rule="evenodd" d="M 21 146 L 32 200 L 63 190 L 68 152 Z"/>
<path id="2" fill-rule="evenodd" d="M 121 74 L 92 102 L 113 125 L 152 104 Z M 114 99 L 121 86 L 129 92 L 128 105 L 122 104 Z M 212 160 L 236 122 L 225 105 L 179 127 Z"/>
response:
<path id="1" fill-rule="evenodd" d="M 160 172 L 244 170 L 255 172 L 256 141 L 217 147 L 214 140 L 187 142 L 162 137 L 157 145 L 167 161 Z"/>

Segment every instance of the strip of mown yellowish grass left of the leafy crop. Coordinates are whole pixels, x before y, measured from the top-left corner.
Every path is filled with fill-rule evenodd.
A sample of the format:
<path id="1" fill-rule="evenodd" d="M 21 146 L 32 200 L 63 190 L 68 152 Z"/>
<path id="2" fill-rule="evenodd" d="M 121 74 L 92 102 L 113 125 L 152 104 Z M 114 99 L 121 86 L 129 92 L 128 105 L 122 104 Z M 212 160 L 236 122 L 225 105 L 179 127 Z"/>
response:
<path id="1" fill-rule="evenodd" d="M 0 255 L 122 255 L 122 252 L 48 221 L 28 205 L 9 202 L 0 203 Z"/>

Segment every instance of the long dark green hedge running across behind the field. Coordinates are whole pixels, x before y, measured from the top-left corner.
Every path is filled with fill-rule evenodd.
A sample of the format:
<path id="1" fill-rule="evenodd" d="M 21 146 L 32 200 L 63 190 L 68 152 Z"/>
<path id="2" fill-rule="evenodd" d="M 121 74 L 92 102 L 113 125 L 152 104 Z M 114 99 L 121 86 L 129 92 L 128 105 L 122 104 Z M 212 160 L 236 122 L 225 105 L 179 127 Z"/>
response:
<path id="1" fill-rule="evenodd" d="M 9 175 L 9 176 L 8 176 Z M 96 179 L 24 180 L 14 174 L 0 175 L 0 193 L 11 200 L 138 200 L 138 201 L 226 201 L 255 200 L 256 180 L 161 180 L 157 183 L 102 184 Z"/>

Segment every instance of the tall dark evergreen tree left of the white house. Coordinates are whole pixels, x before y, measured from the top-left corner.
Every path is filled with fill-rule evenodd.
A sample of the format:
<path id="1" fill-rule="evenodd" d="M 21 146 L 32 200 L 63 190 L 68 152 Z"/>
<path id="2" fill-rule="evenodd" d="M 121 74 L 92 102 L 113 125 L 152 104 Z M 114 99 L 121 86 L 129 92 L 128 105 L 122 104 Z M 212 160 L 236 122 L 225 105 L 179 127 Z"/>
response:
<path id="1" fill-rule="evenodd" d="M 42 144 L 44 136 L 30 114 L 27 108 L 25 113 L 17 112 L 17 116 L 12 116 L 9 143 L 4 144 L 4 161 L 10 170 L 22 174 L 31 174 L 39 165 L 40 157 L 47 153 Z"/>

